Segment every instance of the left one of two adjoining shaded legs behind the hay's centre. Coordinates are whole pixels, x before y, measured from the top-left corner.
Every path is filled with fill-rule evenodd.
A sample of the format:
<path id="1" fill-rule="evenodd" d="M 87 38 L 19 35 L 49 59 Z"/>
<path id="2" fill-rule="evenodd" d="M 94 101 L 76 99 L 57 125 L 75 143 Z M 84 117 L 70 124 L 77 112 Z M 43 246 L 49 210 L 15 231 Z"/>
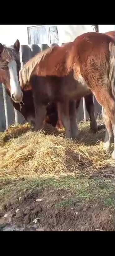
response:
<path id="1" fill-rule="evenodd" d="M 62 121 L 62 124 L 65 128 L 66 138 L 72 138 L 68 101 L 58 102 L 58 117 Z"/>

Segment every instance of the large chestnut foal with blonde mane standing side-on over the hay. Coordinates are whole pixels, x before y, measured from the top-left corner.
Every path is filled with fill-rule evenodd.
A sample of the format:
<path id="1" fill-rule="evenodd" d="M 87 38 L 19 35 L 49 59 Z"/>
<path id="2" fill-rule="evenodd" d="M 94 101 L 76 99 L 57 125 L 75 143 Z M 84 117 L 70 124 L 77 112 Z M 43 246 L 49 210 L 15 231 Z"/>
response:
<path id="1" fill-rule="evenodd" d="M 39 53 L 20 71 L 21 88 L 33 90 L 35 130 L 42 128 L 48 102 L 58 102 L 66 137 L 75 138 L 75 100 L 92 92 L 104 107 L 105 148 L 109 150 L 112 127 L 115 142 L 114 78 L 115 46 L 108 35 L 85 33 L 65 47 L 54 46 Z M 112 157 L 115 159 L 115 149 Z"/>

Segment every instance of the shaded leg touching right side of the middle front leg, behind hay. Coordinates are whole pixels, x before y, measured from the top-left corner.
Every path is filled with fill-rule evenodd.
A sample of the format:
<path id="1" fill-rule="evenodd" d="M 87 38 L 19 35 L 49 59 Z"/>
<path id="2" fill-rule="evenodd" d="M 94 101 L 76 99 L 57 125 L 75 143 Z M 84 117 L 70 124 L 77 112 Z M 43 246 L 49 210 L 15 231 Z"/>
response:
<path id="1" fill-rule="evenodd" d="M 76 139 L 79 132 L 76 122 L 76 101 L 69 101 L 69 116 L 70 116 L 70 126 L 71 126 L 71 135 L 73 139 Z"/>

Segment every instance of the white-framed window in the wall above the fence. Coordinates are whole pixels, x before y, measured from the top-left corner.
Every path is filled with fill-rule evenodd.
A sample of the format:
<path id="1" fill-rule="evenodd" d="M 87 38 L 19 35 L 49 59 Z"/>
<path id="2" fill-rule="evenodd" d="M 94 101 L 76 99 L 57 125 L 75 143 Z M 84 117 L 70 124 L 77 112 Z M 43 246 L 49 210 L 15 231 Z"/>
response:
<path id="1" fill-rule="evenodd" d="M 56 25 L 28 27 L 29 44 L 58 44 L 58 29 Z"/>

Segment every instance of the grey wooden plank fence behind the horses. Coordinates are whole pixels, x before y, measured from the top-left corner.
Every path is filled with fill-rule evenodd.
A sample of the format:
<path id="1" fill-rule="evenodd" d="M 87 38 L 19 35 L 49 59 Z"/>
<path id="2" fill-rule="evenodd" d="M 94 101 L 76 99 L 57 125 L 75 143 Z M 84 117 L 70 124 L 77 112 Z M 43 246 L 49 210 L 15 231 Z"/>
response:
<path id="1" fill-rule="evenodd" d="M 54 45 L 54 44 L 53 44 Z M 53 46 L 50 45 L 50 46 Z M 20 61 L 21 61 L 21 68 L 23 65 L 34 55 L 39 53 L 40 51 L 45 50 L 48 48 L 49 45 L 21 45 L 20 47 Z M 95 116 L 97 117 L 99 113 L 102 112 L 102 107 L 98 104 L 96 99 L 94 98 L 94 105 L 95 105 Z M 77 115 L 77 123 L 81 120 L 86 121 L 89 118 L 85 107 L 85 100 L 84 98 L 81 100 L 79 112 Z M 7 95 L 5 87 L 3 84 L 0 84 L 0 132 L 5 130 L 8 125 L 12 123 L 21 123 L 24 121 L 24 117 L 14 109 L 10 97 Z"/>

